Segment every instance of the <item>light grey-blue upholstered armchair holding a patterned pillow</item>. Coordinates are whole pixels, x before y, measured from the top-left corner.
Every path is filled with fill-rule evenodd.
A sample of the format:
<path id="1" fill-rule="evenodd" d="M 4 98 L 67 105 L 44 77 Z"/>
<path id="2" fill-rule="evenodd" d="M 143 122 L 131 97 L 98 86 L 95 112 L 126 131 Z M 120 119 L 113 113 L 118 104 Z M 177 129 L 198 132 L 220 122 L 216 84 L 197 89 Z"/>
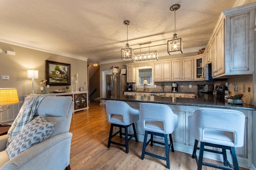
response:
<path id="1" fill-rule="evenodd" d="M 47 122 L 56 122 L 50 137 L 9 160 L 5 151 L 7 135 L 0 136 L 0 159 L 7 161 L 0 170 L 70 169 L 72 133 L 69 129 L 73 109 L 74 102 L 70 96 L 46 96 L 33 119 L 43 115 Z"/>

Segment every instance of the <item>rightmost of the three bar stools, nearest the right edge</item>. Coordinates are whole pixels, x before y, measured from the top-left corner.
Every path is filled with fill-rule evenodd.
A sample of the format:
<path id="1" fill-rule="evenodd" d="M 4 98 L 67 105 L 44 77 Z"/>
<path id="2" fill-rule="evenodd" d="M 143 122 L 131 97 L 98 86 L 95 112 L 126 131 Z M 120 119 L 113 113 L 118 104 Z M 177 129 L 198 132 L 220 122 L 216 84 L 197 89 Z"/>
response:
<path id="1" fill-rule="evenodd" d="M 188 129 L 195 138 L 192 158 L 196 159 L 198 170 L 202 165 L 224 170 L 239 170 L 235 147 L 244 145 L 244 113 L 231 109 L 197 109 L 188 117 Z M 198 148 L 200 141 L 200 148 Z M 204 146 L 216 147 L 222 151 L 205 149 Z M 233 167 L 227 159 L 226 149 L 230 150 Z M 199 150 L 199 156 L 196 156 Z M 223 164 L 216 165 L 203 162 L 204 151 L 222 154 Z"/>

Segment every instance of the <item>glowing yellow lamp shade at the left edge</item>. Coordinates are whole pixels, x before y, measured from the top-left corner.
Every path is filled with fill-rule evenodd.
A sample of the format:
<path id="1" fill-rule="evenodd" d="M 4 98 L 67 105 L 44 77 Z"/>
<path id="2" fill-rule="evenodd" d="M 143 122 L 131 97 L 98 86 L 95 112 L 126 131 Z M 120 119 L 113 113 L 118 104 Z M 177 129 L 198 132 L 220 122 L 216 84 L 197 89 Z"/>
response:
<path id="1" fill-rule="evenodd" d="M 16 88 L 0 88 L 0 106 L 19 102 Z"/>

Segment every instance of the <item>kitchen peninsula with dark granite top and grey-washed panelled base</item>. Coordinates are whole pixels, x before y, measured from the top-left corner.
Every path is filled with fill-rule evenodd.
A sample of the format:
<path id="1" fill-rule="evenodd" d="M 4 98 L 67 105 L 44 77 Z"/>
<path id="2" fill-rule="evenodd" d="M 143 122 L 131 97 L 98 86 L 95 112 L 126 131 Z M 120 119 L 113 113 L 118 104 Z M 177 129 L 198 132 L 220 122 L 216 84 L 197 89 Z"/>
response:
<path id="1" fill-rule="evenodd" d="M 124 101 L 135 109 L 139 109 L 141 103 L 158 103 L 168 105 L 172 109 L 172 111 L 178 115 L 178 127 L 172 134 L 174 149 L 187 153 L 192 153 L 194 146 L 194 137 L 188 129 L 188 116 L 192 115 L 196 109 L 202 107 L 212 107 L 235 109 L 241 111 L 246 115 L 244 146 L 241 148 L 236 148 L 236 154 L 239 166 L 249 168 L 252 163 L 252 150 L 250 148 L 252 148 L 252 113 L 256 113 L 255 106 L 249 104 L 233 106 L 228 104 L 223 98 L 219 98 L 218 96 L 214 95 L 211 95 L 208 100 L 200 98 L 167 98 L 159 96 L 121 96 L 120 98 L 105 97 L 98 99 Z M 232 123 L 232 120 L 230 120 L 230 123 Z M 140 121 L 136 122 L 136 129 L 138 133 L 138 140 L 143 141 L 144 132 L 140 127 Z M 129 131 L 130 133 L 133 133 L 132 128 L 130 128 Z M 156 137 L 156 140 L 160 142 L 163 141 L 162 137 Z M 227 154 L 228 159 L 230 160 L 230 153 Z M 222 157 L 220 155 L 206 152 L 204 156 L 214 160 L 222 161 Z"/>

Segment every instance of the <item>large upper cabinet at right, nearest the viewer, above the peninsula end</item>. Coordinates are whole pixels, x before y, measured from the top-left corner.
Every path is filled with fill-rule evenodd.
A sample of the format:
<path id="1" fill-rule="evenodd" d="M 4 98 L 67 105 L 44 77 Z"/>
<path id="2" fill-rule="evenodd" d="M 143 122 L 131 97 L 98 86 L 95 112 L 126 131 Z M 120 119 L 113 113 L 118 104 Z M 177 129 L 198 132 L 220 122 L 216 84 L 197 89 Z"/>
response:
<path id="1" fill-rule="evenodd" d="M 214 78 L 254 73 L 256 3 L 224 10 L 204 52 Z"/>

